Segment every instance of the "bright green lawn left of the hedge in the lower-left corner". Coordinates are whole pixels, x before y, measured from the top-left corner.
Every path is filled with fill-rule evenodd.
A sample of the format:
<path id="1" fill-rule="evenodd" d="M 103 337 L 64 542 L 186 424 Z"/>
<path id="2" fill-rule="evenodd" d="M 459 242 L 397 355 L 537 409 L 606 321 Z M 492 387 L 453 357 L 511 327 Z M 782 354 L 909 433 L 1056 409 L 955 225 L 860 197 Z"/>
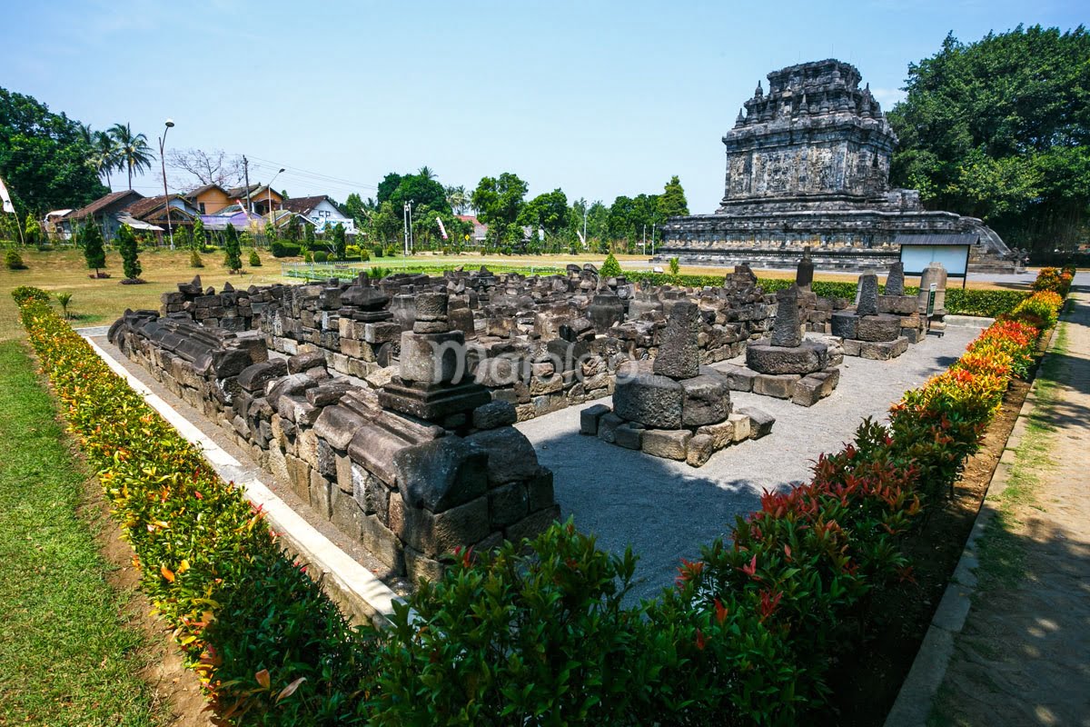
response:
<path id="1" fill-rule="evenodd" d="M 77 512 L 87 472 L 34 368 L 0 341 L 0 725 L 160 724 L 144 635 Z"/>

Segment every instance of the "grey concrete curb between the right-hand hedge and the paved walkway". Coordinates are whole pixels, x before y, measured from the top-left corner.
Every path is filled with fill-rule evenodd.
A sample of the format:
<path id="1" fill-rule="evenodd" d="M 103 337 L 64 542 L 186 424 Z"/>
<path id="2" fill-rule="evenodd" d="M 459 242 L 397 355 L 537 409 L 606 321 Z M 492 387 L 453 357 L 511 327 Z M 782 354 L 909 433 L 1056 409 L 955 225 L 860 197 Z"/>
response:
<path id="1" fill-rule="evenodd" d="M 1052 329 L 1044 356 L 1047 356 L 1055 347 L 1058 331 L 1059 324 Z M 1041 365 L 1043 365 L 1044 356 L 1041 359 Z M 989 500 L 1002 495 L 1007 487 L 1010 470 L 1015 463 L 1015 451 L 1021 445 L 1030 414 L 1037 408 L 1038 381 L 1039 379 L 1034 377 L 1033 385 L 1018 411 L 1018 419 L 1015 421 L 1007 444 L 1003 448 L 1003 455 L 1000 457 L 988 490 L 984 493 L 984 501 L 977 513 L 972 531 L 970 531 L 969 538 L 965 544 L 965 550 L 961 552 L 957 568 L 954 569 L 950 582 L 946 585 L 942 601 L 938 602 L 938 608 L 935 609 L 931 627 L 920 644 L 920 651 L 916 654 L 912 668 L 900 686 L 893 708 L 886 715 L 885 727 L 927 726 L 931 707 L 938 693 L 938 688 L 946 678 L 946 668 L 954 655 L 954 640 L 965 627 L 969 610 L 972 608 L 972 595 L 977 590 L 976 570 L 980 564 L 977 556 L 977 542 L 983 535 L 988 523 L 995 517 L 995 510 Z"/>

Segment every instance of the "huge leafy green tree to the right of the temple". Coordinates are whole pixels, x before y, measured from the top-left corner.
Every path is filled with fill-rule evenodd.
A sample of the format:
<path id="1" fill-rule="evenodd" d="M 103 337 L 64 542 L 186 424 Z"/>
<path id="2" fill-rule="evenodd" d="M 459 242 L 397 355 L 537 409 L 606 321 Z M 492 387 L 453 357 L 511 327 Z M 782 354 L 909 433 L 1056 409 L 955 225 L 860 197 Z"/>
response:
<path id="1" fill-rule="evenodd" d="M 1010 245 L 1071 246 L 1090 219 L 1090 35 L 1039 25 L 948 35 L 888 113 L 895 184 L 981 217 Z"/>

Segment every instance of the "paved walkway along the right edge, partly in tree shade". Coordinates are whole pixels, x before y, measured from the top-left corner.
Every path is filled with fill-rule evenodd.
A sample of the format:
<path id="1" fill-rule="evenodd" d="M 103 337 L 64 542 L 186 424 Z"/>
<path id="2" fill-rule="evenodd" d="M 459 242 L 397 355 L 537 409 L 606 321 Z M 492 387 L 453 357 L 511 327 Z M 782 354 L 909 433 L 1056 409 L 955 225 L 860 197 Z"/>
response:
<path id="1" fill-rule="evenodd" d="M 1090 292 L 1079 288 L 1042 368 L 1040 383 L 1055 385 L 1030 417 L 1031 429 L 1055 428 L 1019 448 L 1036 482 L 1001 496 L 1009 536 L 982 553 L 982 590 L 928 725 L 1090 726 Z M 1000 555 L 1022 565 L 1013 582 L 989 579 Z"/>

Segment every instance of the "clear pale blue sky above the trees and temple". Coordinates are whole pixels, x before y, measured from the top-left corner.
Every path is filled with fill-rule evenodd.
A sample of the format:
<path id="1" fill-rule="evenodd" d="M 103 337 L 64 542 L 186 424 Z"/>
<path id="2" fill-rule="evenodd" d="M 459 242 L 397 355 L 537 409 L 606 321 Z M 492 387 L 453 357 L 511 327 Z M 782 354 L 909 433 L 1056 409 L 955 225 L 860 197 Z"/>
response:
<path id="1" fill-rule="evenodd" d="M 770 71 L 839 58 L 889 108 L 947 32 L 1087 15 L 1050 0 L 3 5 L 0 86 L 156 147 L 170 117 L 168 148 L 246 154 L 251 181 L 288 167 L 276 186 L 293 196 L 366 197 L 427 165 L 445 184 L 513 171 L 531 194 L 609 204 L 678 174 L 694 213 L 722 197 L 719 140 Z"/>

